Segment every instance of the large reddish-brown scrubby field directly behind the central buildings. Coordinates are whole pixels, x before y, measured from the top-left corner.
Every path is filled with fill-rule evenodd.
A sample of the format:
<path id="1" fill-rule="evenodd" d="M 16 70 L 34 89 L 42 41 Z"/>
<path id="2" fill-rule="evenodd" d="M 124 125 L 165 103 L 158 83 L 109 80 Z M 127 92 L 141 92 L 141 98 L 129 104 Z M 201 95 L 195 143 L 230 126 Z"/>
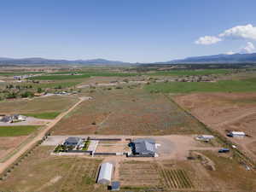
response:
<path id="1" fill-rule="evenodd" d="M 101 90 L 54 127 L 54 135 L 166 135 L 206 133 L 161 94 L 142 89 Z M 72 125 L 72 129 L 70 126 Z"/>

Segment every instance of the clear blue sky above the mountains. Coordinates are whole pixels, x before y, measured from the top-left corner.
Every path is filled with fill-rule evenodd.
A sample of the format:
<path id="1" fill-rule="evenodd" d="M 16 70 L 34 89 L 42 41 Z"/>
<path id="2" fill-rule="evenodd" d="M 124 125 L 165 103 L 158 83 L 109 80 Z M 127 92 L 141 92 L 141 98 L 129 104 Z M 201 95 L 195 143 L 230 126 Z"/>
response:
<path id="1" fill-rule="evenodd" d="M 255 9 L 255 0 L 1 1 L 0 57 L 151 62 L 240 52 L 256 45 Z"/>

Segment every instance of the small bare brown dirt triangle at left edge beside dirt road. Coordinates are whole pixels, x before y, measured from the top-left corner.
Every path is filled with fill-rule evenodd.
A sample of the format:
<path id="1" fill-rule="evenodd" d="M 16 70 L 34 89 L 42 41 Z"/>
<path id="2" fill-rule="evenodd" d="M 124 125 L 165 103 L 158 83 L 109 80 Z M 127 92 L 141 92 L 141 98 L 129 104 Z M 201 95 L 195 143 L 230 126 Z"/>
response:
<path id="1" fill-rule="evenodd" d="M 10 151 L 15 149 L 23 141 L 26 140 L 26 136 L 20 137 L 1 137 L 0 139 L 0 159 L 9 154 Z"/>

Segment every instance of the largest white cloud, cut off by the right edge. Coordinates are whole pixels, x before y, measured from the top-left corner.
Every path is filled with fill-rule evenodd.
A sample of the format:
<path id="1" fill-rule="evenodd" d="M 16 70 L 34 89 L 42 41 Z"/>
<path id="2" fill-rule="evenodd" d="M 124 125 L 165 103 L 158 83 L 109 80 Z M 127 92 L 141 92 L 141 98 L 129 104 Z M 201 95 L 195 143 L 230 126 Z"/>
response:
<path id="1" fill-rule="evenodd" d="M 234 26 L 218 35 L 220 38 L 246 38 L 256 40 L 256 26 Z"/>

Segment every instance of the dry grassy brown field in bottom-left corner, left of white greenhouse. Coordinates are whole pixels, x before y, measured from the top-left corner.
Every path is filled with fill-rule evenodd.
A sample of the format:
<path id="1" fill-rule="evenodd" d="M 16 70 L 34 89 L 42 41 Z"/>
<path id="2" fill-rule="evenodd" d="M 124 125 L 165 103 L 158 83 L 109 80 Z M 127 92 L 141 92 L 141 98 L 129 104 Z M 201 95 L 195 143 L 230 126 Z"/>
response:
<path id="1" fill-rule="evenodd" d="M 101 160 L 50 155 L 53 147 L 38 147 L 0 181 L 0 191 L 102 192 L 96 185 Z M 14 184 L 15 183 L 15 184 Z"/>

